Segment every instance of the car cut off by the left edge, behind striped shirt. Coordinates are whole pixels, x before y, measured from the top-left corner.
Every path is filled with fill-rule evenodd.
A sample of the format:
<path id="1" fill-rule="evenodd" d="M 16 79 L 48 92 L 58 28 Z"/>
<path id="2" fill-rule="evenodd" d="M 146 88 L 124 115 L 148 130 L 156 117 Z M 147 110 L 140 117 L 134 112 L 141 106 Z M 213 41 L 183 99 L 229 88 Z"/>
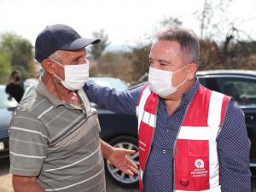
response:
<path id="1" fill-rule="evenodd" d="M 9 156 L 9 123 L 17 104 L 5 93 L 5 85 L 0 84 L 0 159 Z"/>

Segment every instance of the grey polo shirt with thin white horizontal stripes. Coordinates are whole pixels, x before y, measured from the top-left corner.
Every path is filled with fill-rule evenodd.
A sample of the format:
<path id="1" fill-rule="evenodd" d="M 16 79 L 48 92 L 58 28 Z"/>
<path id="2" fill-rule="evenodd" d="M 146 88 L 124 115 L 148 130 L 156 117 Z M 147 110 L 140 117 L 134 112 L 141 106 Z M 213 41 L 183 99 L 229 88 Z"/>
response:
<path id="1" fill-rule="evenodd" d="M 43 81 L 20 102 L 10 126 L 10 172 L 36 176 L 45 191 L 106 191 L 97 113 L 61 102 Z"/>

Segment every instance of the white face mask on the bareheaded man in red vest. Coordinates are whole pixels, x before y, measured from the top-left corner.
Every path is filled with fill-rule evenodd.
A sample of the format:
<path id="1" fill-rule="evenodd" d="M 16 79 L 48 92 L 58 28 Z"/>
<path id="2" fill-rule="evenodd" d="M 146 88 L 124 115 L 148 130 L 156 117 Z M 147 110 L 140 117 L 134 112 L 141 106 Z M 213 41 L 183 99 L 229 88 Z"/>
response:
<path id="1" fill-rule="evenodd" d="M 172 93 L 175 93 L 177 91 L 177 88 L 183 83 L 185 83 L 187 79 L 185 79 L 183 83 L 178 84 L 175 87 L 172 85 L 172 76 L 174 73 L 177 73 L 184 67 L 178 69 L 176 72 L 170 72 L 166 70 L 157 69 L 154 67 L 149 67 L 148 83 L 150 89 L 161 97 L 169 96 Z"/>

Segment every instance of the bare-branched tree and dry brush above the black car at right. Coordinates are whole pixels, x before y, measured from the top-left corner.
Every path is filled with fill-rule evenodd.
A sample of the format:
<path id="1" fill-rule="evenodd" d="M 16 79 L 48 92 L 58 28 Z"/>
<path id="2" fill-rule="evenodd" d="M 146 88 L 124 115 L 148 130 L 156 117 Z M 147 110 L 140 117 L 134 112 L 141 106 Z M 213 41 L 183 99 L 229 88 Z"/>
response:
<path id="1" fill-rule="evenodd" d="M 242 18 L 230 20 L 226 15 L 232 0 L 205 0 L 202 11 L 196 11 L 201 22 L 200 69 L 254 69 L 255 42 L 238 26 Z"/>

